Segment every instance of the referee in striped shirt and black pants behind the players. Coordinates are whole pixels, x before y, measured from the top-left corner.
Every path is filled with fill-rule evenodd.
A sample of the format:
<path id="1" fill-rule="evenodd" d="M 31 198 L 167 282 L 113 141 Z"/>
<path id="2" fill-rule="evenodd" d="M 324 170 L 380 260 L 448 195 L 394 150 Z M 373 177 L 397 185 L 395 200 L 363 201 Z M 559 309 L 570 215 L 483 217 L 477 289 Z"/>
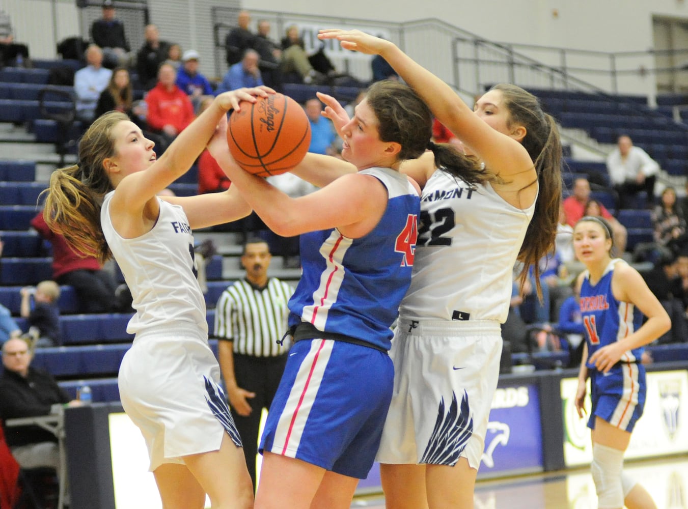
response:
<path id="1" fill-rule="evenodd" d="M 266 241 L 248 239 L 241 255 L 246 277 L 222 292 L 215 310 L 219 365 L 254 489 L 261 413 L 270 408 L 287 362 L 288 345 L 278 342 L 288 328 L 294 292 L 268 278 L 271 258 Z"/>

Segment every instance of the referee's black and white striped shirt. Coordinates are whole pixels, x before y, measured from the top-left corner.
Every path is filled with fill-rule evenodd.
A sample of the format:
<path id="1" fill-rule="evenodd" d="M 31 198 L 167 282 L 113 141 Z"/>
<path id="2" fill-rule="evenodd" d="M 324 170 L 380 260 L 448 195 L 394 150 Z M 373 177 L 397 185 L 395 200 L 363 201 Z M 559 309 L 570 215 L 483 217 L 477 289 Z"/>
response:
<path id="1" fill-rule="evenodd" d="M 274 357 L 288 345 L 277 343 L 287 331 L 289 308 L 294 293 L 288 283 L 275 277 L 259 289 L 242 279 L 230 285 L 217 300 L 215 336 L 232 340 L 235 354 Z"/>

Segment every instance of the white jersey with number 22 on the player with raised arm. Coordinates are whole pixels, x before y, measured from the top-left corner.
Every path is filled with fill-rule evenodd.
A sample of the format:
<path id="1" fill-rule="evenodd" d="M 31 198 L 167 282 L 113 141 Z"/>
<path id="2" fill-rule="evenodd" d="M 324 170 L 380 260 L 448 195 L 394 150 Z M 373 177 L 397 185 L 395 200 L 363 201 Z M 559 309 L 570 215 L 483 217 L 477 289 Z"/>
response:
<path id="1" fill-rule="evenodd" d="M 420 199 L 416 260 L 400 316 L 504 323 L 534 211 L 535 202 L 521 210 L 490 184 L 469 186 L 436 170 Z"/>

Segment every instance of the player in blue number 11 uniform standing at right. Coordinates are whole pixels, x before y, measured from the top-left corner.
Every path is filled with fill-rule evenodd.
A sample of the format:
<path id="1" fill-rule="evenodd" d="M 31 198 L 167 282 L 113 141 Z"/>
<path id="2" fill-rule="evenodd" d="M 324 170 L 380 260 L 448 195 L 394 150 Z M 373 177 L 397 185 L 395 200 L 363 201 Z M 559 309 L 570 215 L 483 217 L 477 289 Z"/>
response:
<path id="1" fill-rule="evenodd" d="M 652 509 L 647 491 L 623 473 L 623 453 L 645 406 L 643 346 L 667 332 L 671 321 L 638 271 L 612 258 L 612 243 L 612 229 L 600 217 L 585 216 L 574 228 L 576 257 L 585 265 L 578 279 L 585 346 L 576 408 L 582 418 L 590 376 L 590 469 L 598 507 Z"/>

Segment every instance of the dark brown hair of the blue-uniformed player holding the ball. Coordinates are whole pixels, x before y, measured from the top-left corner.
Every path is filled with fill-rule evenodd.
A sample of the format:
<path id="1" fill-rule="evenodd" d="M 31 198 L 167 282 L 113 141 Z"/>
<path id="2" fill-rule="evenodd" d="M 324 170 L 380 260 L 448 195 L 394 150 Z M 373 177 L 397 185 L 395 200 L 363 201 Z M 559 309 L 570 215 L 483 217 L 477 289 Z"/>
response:
<path id="1" fill-rule="evenodd" d="M 411 87 L 396 80 L 381 80 L 370 86 L 365 99 L 378 119 L 380 140 L 401 145 L 400 160 L 416 159 L 431 149 L 438 167 L 469 184 L 493 178 L 477 158 L 460 153 L 448 143 L 431 143 L 432 113 Z"/>

